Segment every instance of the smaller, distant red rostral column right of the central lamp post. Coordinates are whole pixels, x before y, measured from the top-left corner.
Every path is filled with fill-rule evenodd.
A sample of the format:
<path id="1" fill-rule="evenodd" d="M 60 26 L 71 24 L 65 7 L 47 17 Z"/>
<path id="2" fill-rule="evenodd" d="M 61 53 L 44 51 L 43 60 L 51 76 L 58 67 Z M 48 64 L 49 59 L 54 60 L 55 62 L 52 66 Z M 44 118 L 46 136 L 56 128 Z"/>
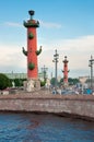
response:
<path id="1" fill-rule="evenodd" d="M 64 56 L 64 60 L 63 60 L 63 83 L 64 84 L 68 84 L 68 60 L 67 60 L 67 56 Z"/>

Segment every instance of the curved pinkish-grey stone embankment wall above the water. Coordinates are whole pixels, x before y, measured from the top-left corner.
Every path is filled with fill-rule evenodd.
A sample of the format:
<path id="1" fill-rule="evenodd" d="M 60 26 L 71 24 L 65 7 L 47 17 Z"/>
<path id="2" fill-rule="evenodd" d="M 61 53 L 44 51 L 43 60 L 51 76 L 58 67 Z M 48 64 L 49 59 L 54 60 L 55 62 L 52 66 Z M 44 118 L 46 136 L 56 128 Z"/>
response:
<path id="1" fill-rule="evenodd" d="M 52 113 L 94 121 L 93 95 L 52 95 L 50 93 L 23 93 L 0 96 L 0 110 Z"/>

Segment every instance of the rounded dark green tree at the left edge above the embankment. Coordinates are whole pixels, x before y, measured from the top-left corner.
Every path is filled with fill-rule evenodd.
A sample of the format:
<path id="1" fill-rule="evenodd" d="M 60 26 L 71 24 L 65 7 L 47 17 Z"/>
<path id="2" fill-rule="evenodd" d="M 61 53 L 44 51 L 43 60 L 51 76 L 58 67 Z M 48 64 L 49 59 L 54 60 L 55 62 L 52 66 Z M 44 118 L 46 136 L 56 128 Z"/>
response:
<path id="1" fill-rule="evenodd" d="M 12 86 L 12 82 L 5 74 L 0 73 L 0 90 L 4 90 L 9 86 Z"/>

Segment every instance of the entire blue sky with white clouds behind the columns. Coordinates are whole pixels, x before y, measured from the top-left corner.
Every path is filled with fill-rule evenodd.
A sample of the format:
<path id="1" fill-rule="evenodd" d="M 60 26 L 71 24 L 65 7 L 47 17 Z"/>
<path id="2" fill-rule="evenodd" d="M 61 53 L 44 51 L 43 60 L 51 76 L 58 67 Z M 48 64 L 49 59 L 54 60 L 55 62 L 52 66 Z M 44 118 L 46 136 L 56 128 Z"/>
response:
<path id="1" fill-rule="evenodd" d="M 59 54 L 58 76 L 63 78 L 63 59 L 68 57 L 70 78 L 89 76 L 89 60 L 94 57 L 94 0 L 0 0 L 0 72 L 25 73 L 27 48 L 23 21 L 39 21 L 37 49 L 38 70 L 45 66 L 48 75 L 55 75 L 54 55 Z"/>

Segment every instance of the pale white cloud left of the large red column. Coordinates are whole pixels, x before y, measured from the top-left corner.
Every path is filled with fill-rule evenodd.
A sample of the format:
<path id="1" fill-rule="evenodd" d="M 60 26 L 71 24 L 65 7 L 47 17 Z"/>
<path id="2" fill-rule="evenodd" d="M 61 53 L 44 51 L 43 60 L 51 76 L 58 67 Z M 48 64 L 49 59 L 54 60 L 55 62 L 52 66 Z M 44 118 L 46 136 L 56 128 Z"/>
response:
<path id="1" fill-rule="evenodd" d="M 26 68 L 26 58 L 22 49 L 14 45 L 0 45 L 0 72 L 23 72 Z"/>

